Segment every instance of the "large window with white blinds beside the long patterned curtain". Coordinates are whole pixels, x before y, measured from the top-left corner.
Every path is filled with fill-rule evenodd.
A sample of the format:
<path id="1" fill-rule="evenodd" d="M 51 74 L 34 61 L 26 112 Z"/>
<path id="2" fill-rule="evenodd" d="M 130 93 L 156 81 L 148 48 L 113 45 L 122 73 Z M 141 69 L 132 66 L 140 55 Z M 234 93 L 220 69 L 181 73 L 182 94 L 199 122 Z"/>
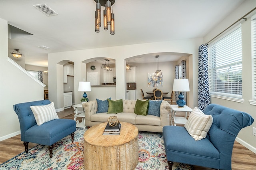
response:
<path id="1" fill-rule="evenodd" d="M 236 28 L 209 45 L 211 96 L 242 99 L 242 32 Z"/>

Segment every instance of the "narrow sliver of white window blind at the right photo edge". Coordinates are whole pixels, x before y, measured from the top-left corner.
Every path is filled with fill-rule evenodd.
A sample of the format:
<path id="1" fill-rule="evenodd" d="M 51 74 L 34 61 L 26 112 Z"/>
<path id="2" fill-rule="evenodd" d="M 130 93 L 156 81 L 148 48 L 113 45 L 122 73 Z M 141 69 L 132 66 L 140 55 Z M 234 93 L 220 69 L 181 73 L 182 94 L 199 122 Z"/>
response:
<path id="1" fill-rule="evenodd" d="M 256 15 L 252 16 L 252 93 L 256 100 Z"/>

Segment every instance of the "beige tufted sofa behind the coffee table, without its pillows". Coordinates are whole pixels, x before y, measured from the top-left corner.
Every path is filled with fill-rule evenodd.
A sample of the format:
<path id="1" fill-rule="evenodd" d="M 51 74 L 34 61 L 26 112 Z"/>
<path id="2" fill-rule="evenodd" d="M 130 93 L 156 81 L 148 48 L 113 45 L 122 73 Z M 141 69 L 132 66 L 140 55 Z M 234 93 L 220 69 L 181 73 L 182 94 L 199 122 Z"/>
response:
<path id="1" fill-rule="evenodd" d="M 135 125 L 140 131 L 163 132 L 163 127 L 170 125 L 169 114 L 171 113 L 170 104 L 162 101 L 160 105 L 160 117 L 154 115 L 137 115 L 134 113 L 136 100 L 123 100 L 122 113 L 97 113 L 97 101 L 89 101 L 83 104 L 85 111 L 85 126 L 107 122 L 110 116 L 117 116 L 118 121 L 127 122 Z"/>

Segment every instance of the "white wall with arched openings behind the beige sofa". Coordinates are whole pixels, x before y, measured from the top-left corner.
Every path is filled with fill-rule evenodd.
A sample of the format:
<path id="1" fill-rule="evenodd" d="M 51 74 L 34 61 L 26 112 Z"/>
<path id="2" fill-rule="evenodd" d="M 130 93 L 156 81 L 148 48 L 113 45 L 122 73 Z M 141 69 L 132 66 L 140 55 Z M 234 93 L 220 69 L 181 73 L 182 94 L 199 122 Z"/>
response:
<path id="1" fill-rule="evenodd" d="M 81 92 L 78 92 L 78 82 L 86 80 L 86 65 L 84 63 L 88 63 L 94 61 L 97 57 L 106 57 L 112 58 L 116 60 L 116 99 L 125 99 L 126 97 L 126 58 L 130 58 L 137 55 L 148 54 L 148 53 L 189 53 L 192 54 L 189 59 L 189 75 L 190 79 L 190 87 L 191 94 L 197 94 L 197 72 L 198 72 L 198 47 L 202 44 L 201 38 L 196 39 L 188 39 L 188 40 L 175 40 L 169 42 L 156 42 L 156 43 L 144 43 L 144 44 L 135 44 L 135 45 L 124 45 L 124 46 L 116 46 L 116 47 L 108 47 L 108 48 L 98 48 L 98 49 L 84 49 L 77 51 L 66 51 L 60 53 L 50 53 L 48 54 L 48 70 L 51 72 L 49 74 L 49 99 L 54 103 L 58 103 L 55 105 L 57 109 L 63 107 L 63 99 L 61 97 L 61 93 L 63 93 L 63 89 L 57 88 L 59 82 L 63 81 L 61 79 L 62 72 L 58 63 L 62 63 L 62 61 L 72 61 L 74 62 L 74 93 L 75 93 L 75 103 L 80 103 L 80 98 L 82 96 Z M 125 52 L 124 52 L 125 51 Z M 84 54 L 81 56 L 80 54 Z M 63 63 L 62 63 L 63 64 Z M 81 65 L 84 64 L 84 65 Z M 155 71 L 155 65 L 152 66 L 153 71 Z M 166 76 L 168 72 L 173 72 L 174 68 L 168 68 L 166 71 Z M 150 71 L 150 70 L 149 70 Z M 148 72 L 148 71 L 147 71 Z M 146 74 L 147 74 L 146 72 Z M 138 73 L 138 71 L 137 71 Z M 196 73 L 196 74 L 192 74 Z M 56 76 L 57 75 L 57 76 Z M 147 76 L 146 76 L 147 77 Z M 140 77 L 137 77 L 140 79 Z M 137 79 L 137 80 L 138 80 Z M 172 85 L 172 82 L 166 82 Z M 166 87 L 165 87 L 166 88 Z M 92 92 L 91 92 L 92 93 Z M 101 93 L 98 91 L 93 92 L 95 95 L 99 96 Z M 113 95 L 112 95 L 113 96 Z M 140 96 L 140 95 L 138 95 Z M 190 96 L 190 107 L 194 107 L 198 105 L 197 95 Z"/>

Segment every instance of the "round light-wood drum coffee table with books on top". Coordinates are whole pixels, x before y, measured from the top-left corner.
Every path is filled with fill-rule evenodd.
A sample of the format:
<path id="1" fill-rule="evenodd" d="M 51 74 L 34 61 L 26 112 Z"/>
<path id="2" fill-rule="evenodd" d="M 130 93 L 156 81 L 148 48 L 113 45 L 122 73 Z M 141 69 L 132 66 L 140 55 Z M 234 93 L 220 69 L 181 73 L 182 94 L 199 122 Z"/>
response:
<path id="1" fill-rule="evenodd" d="M 85 170 L 134 170 L 138 164 L 138 128 L 120 122 L 119 135 L 102 135 L 107 123 L 84 133 Z"/>

